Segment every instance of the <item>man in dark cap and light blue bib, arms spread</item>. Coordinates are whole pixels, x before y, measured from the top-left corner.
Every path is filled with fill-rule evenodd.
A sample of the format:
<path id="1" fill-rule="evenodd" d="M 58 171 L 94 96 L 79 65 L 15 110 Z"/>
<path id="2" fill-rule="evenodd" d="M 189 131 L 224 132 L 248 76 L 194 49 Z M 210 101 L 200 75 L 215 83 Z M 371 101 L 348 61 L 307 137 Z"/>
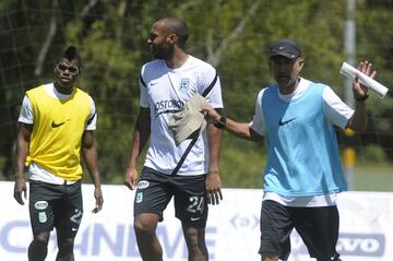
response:
<path id="1" fill-rule="evenodd" d="M 261 260 L 287 260 L 289 235 L 296 228 L 310 257 L 338 261 L 335 201 L 347 183 L 333 126 L 365 131 L 367 88 L 354 80 L 353 110 L 327 85 L 300 78 L 305 59 L 291 39 L 272 45 L 270 66 L 276 84 L 259 93 L 250 123 L 225 118 L 211 106 L 203 111 L 211 122 L 239 138 L 266 140 Z M 364 61 L 358 69 L 373 78 L 371 67 Z"/>

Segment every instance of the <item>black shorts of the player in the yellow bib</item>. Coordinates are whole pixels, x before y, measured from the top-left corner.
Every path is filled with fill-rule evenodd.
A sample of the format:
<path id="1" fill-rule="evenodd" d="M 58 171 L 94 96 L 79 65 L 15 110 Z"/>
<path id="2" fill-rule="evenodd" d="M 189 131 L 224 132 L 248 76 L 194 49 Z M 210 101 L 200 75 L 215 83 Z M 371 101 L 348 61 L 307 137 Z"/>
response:
<path id="1" fill-rule="evenodd" d="M 34 235 L 56 227 L 74 237 L 83 215 L 81 182 L 52 185 L 29 180 L 29 215 Z"/>

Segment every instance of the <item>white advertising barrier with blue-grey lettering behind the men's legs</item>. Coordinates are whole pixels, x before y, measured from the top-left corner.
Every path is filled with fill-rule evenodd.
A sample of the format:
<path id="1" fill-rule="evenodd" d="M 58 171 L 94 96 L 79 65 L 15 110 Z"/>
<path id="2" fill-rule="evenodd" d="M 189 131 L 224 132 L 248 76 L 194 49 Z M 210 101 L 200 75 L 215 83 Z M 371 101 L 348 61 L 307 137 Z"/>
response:
<path id="1" fill-rule="evenodd" d="M 83 185 L 84 216 L 75 239 L 75 259 L 83 261 L 133 261 L 139 258 L 132 227 L 134 192 L 123 186 L 104 186 L 104 209 L 92 214 L 93 187 Z M 210 206 L 206 242 L 211 261 L 259 261 L 259 216 L 262 190 L 224 189 L 224 201 Z M 0 182 L 0 261 L 25 261 L 32 230 L 28 204 L 13 200 L 13 182 Z M 338 197 L 341 235 L 337 250 L 345 261 L 393 260 L 393 193 L 345 192 Z M 57 248 L 51 236 L 47 260 Z M 157 234 L 164 260 L 187 260 L 180 223 L 172 204 Z M 291 236 L 291 261 L 311 260 L 296 233 Z"/>

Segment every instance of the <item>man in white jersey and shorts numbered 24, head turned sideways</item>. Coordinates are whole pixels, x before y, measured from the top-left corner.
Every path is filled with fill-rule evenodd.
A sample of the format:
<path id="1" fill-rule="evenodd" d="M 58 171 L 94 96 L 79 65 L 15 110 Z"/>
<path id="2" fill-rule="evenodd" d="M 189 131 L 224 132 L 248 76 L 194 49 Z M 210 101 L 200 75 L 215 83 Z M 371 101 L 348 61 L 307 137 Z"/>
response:
<path id="1" fill-rule="evenodd" d="M 147 39 L 156 60 L 141 70 L 140 112 L 124 183 L 130 189 L 135 188 L 138 158 L 150 138 L 134 199 L 134 230 L 145 261 L 163 260 L 155 229 L 171 198 L 176 217 L 181 221 L 189 260 L 209 260 L 207 203 L 218 204 L 222 200 L 218 174 L 222 131 L 209 127 L 177 146 L 168 127 L 170 117 L 182 110 L 195 94 L 204 96 L 214 108 L 223 108 L 216 70 L 184 51 L 188 35 L 181 19 L 156 21 Z"/>

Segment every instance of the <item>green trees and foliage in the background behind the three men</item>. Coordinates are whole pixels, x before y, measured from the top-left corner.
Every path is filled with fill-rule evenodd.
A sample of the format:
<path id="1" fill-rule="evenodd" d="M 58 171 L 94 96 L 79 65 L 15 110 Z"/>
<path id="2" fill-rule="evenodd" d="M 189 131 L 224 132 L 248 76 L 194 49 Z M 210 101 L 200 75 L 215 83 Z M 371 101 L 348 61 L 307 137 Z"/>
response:
<path id="1" fill-rule="evenodd" d="M 393 82 L 393 12 L 383 1 L 356 1 L 357 57 L 378 68 L 377 80 Z M 274 82 L 269 47 L 295 38 L 306 57 L 305 78 L 331 85 L 343 95 L 338 70 L 346 60 L 343 31 L 347 0 L 151 0 L 11 1 L 0 3 L 0 173 L 11 177 L 17 106 L 25 90 L 52 79 L 53 60 L 68 45 L 81 50 L 84 66 L 78 86 L 97 106 L 96 131 L 103 180 L 122 181 L 139 111 L 140 68 L 152 57 L 146 37 L 163 16 L 183 17 L 190 27 L 188 51 L 219 73 L 224 114 L 250 121 L 261 88 Z M 50 35 L 50 26 L 55 33 Z M 48 43 L 48 48 L 45 45 Z M 41 71 L 38 60 L 43 56 Z M 393 99 L 368 99 L 369 127 L 360 135 L 362 161 L 392 161 Z M 383 138 L 383 142 L 379 139 Z M 381 147 L 368 146 L 378 144 Z M 383 151 L 382 151 L 383 150 Z M 260 188 L 263 144 L 229 138 L 223 144 L 221 173 L 226 187 Z M 385 155 L 385 156 L 383 156 Z M 87 180 L 90 180 L 87 178 Z"/>

